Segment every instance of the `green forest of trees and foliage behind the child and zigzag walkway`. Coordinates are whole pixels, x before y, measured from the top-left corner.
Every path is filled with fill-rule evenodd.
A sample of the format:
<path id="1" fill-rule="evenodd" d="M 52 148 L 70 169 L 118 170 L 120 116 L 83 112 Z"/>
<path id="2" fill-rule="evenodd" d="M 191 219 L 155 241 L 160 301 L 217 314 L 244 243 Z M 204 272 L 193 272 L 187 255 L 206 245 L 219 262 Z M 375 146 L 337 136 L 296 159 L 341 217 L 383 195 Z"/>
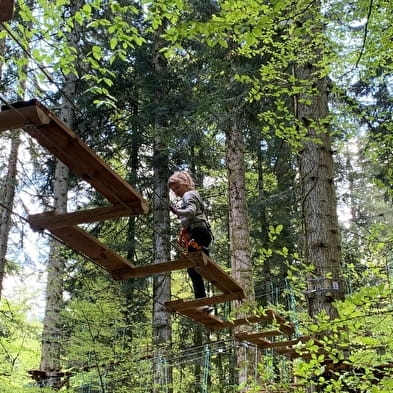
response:
<path id="1" fill-rule="evenodd" d="M 246 374 L 248 391 L 297 375 L 299 392 L 391 392 L 389 369 L 375 370 L 393 350 L 392 15 L 387 0 L 17 1 L 1 23 L 2 103 L 38 98 L 150 202 L 145 217 L 89 231 L 136 265 L 174 258 L 166 180 L 189 170 L 208 203 L 212 259 L 246 284 L 253 312 L 274 308 L 327 355 L 311 340 L 311 360 L 292 362 L 232 331 L 209 334 L 162 307 L 191 296 L 186 273 L 113 281 L 33 233 L 28 214 L 104 201 L 10 131 L 0 390 L 235 392 Z M 320 185 L 313 166 L 334 179 L 329 169 Z M 313 228 L 334 227 L 336 207 L 340 229 L 319 244 L 335 253 L 316 260 Z M 251 277 L 238 275 L 240 259 Z M 232 306 L 215 312 L 231 318 Z M 328 379 L 325 356 L 358 372 Z M 39 388 L 37 369 L 52 376 Z"/>

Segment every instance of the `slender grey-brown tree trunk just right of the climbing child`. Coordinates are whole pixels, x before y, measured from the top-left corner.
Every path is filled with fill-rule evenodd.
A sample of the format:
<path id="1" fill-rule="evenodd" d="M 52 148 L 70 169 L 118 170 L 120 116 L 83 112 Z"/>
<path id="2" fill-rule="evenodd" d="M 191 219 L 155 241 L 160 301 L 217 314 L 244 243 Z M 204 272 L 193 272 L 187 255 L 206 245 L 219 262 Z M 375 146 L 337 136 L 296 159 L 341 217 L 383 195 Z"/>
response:
<path id="1" fill-rule="evenodd" d="M 240 118 L 232 115 L 233 121 L 226 128 L 226 165 L 229 194 L 229 243 L 233 278 L 244 288 L 247 302 L 255 299 L 249 246 L 248 213 L 244 165 L 244 140 Z M 236 309 L 240 302 L 234 302 Z M 244 317 L 240 311 L 237 317 Z M 244 327 L 243 327 L 244 330 Z M 247 365 L 244 346 L 238 347 L 239 384 L 247 384 L 247 375 L 253 375 Z"/>

